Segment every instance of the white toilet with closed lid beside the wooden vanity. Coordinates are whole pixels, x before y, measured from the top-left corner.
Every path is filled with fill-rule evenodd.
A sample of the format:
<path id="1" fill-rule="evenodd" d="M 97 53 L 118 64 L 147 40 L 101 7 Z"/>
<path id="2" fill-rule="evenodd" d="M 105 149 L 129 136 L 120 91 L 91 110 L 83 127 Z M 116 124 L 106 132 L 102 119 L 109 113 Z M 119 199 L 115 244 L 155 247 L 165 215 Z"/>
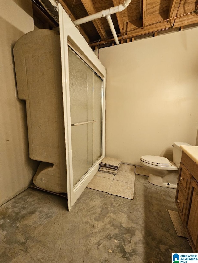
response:
<path id="1" fill-rule="evenodd" d="M 173 162 L 166 157 L 145 155 L 140 158 L 140 163 L 149 171 L 148 181 L 152 184 L 177 188 L 178 171 L 182 158 L 182 149 L 180 145 L 190 145 L 186 142 L 174 142 L 173 144 Z"/>

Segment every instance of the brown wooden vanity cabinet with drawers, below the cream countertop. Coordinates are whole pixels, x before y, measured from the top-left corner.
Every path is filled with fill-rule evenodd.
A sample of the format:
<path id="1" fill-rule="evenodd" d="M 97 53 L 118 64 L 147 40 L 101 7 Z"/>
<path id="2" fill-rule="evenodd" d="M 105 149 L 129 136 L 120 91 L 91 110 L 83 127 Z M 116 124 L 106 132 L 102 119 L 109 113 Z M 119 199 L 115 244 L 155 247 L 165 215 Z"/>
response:
<path id="1" fill-rule="evenodd" d="M 198 253 L 198 164 L 182 152 L 175 202 L 194 253 Z"/>

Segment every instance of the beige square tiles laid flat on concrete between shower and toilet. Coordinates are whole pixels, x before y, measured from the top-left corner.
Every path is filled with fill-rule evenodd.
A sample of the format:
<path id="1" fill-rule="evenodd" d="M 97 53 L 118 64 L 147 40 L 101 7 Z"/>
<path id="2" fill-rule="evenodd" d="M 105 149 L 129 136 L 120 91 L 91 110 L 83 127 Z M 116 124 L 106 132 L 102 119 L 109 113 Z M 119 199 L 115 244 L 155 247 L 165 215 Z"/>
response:
<path id="1" fill-rule="evenodd" d="M 121 163 L 117 175 L 98 171 L 87 188 L 133 200 L 135 173 L 149 175 L 143 167 Z"/>

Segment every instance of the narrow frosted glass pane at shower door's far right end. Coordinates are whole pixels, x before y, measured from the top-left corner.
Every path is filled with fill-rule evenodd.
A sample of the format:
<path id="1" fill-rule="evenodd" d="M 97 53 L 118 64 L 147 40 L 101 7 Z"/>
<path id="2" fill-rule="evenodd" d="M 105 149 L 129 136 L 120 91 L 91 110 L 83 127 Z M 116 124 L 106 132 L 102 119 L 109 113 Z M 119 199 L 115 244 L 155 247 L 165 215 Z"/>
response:
<path id="1" fill-rule="evenodd" d="M 101 156 L 102 80 L 93 77 L 93 162 Z"/>

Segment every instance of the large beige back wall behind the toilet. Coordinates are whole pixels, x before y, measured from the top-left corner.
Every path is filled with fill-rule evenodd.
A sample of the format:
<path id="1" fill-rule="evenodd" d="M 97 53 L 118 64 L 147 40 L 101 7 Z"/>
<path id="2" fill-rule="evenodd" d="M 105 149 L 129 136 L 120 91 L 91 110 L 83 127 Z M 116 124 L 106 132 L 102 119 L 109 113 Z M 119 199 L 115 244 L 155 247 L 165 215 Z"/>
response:
<path id="1" fill-rule="evenodd" d="M 198 28 L 100 49 L 107 69 L 106 155 L 140 165 L 196 143 Z"/>

